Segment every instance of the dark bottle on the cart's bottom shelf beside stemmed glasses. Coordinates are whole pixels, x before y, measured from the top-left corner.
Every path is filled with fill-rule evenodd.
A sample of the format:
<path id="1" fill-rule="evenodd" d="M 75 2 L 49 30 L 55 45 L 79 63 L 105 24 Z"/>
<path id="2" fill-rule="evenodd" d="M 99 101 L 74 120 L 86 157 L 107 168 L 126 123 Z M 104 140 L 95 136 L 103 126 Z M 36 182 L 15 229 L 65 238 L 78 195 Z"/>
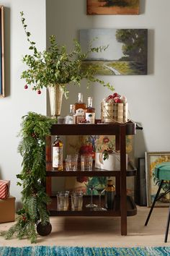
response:
<path id="1" fill-rule="evenodd" d="M 112 179 L 107 181 L 107 187 L 105 188 L 105 207 L 109 210 L 113 209 L 115 198 L 115 186 L 113 185 Z"/>

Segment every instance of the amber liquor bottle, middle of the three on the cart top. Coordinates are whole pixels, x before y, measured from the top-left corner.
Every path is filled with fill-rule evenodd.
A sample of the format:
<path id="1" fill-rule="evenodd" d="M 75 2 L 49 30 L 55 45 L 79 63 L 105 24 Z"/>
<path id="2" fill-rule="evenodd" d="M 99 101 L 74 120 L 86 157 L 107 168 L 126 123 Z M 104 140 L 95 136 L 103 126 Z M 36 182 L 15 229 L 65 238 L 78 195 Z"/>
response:
<path id="1" fill-rule="evenodd" d="M 78 102 L 74 104 L 74 111 L 76 114 L 76 124 L 85 118 L 86 103 L 83 102 L 83 94 L 78 93 Z"/>

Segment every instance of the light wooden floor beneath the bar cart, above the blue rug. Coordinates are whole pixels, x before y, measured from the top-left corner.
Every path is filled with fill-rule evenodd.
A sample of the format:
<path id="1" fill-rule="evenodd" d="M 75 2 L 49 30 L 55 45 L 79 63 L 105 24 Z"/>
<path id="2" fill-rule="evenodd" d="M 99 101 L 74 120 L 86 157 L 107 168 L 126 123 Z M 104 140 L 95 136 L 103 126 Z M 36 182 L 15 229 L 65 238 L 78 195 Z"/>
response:
<path id="1" fill-rule="evenodd" d="M 30 245 L 66 245 L 84 247 L 144 247 L 170 246 L 164 243 L 168 208 L 155 208 L 144 226 L 150 208 L 138 207 L 138 214 L 128 217 L 128 236 L 120 235 L 120 217 L 51 217 L 53 226 L 49 236 L 39 236 L 37 244 L 27 239 L 5 240 L 0 236 L 0 246 L 23 247 Z M 9 229 L 14 223 L 1 223 L 0 230 Z"/>

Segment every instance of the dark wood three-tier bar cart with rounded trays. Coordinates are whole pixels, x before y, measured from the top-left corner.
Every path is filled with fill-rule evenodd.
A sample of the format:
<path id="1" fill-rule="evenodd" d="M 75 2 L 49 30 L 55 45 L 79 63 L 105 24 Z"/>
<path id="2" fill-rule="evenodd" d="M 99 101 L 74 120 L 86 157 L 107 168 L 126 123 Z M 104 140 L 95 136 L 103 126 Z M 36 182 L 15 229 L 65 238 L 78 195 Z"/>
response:
<path id="1" fill-rule="evenodd" d="M 46 192 L 52 198 L 48 205 L 50 216 L 120 216 L 121 234 L 127 235 L 127 216 L 135 216 L 137 209 L 133 198 L 127 196 L 126 179 L 128 176 L 135 176 L 136 168 L 128 164 L 126 169 L 126 135 L 135 135 L 135 122 L 128 121 L 125 124 L 53 124 L 51 136 L 46 137 Z M 120 150 L 120 171 L 104 171 L 99 168 L 93 168 L 92 171 L 52 171 L 52 135 L 115 135 L 116 150 Z M 113 210 L 93 211 L 85 208 L 81 211 L 58 211 L 56 196 L 52 195 L 51 178 L 58 176 L 115 176 L 116 196 Z M 97 197 L 98 198 L 98 197 Z M 94 202 L 97 200 L 94 196 Z M 84 205 L 86 205 L 89 196 L 84 196 Z"/>

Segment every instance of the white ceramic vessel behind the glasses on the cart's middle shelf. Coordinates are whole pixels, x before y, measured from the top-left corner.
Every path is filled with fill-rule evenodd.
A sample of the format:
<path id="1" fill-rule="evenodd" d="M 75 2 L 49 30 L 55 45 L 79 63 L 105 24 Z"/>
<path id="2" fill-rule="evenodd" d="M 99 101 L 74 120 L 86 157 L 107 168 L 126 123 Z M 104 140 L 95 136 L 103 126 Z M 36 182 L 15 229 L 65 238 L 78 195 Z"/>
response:
<path id="1" fill-rule="evenodd" d="M 103 160 L 103 153 L 96 152 L 95 167 L 107 171 L 120 170 L 120 153 L 109 154 L 109 157 Z M 126 168 L 128 168 L 128 154 L 126 154 Z"/>

